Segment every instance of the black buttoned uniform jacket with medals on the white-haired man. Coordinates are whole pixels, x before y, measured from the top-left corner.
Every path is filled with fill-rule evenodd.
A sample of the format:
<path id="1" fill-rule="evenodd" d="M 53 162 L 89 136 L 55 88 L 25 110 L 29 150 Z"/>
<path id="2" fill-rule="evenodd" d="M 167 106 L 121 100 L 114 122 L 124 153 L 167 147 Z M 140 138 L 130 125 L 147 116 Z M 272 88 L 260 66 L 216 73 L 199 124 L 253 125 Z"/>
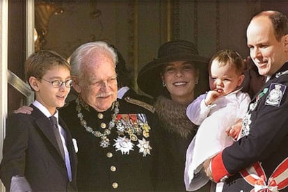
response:
<path id="1" fill-rule="evenodd" d="M 108 147 L 101 147 L 101 139 L 86 131 L 80 124 L 76 102 L 70 102 L 61 111 L 79 147 L 77 153 L 79 191 L 156 191 L 161 187 L 159 180 L 164 174 L 161 172 L 166 170 L 163 163 L 166 157 L 161 138 L 157 133 L 159 129 L 157 116 L 142 106 L 130 104 L 124 99 L 118 99 L 118 102 L 120 111 L 115 120 L 115 127 L 112 127 L 111 134 L 107 136 L 110 142 Z M 82 108 L 81 113 L 83 120 L 86 120 L 93 131 L 103 133 L 109 127 L 114 110 L 111 108 L 98 113 L 88 106 L 87 109 Z M 130 125 L 129 122 L 134 122 L 136 125 Z M 146 133 L 143 136 L 143 125 L 140 126 L 141 129 L 137 129 L 140 134 L 136 134 L 136 128 L 139 128 L 137 124 L 140 122 L 149 125 L 148 135 Z M 126 130 L 124 134 L 119 131 L 122 128 Z M 136 140 L 135 137 L 134 141 L 130 139 L 128 130 L 134 131 Z M 123 140 L 128 142 L 122 143 Z"/>

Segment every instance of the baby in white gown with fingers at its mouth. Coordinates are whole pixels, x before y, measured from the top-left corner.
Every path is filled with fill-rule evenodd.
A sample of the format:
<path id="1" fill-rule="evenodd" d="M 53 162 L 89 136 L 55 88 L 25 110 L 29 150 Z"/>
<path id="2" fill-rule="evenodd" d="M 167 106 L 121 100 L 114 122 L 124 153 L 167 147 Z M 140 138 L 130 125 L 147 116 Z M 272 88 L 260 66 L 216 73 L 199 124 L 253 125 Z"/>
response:
<path id="1" fill-rule="evenodd" d="M 208 182 L 202 163 L 237 139 L 240 130 L 231 129 L 245 115 L 250 97 L 242 93 L 245 65 L 236 51 L 218 51 L 209 63 L 209 92 L 200 95 L 186 109 L 186 115 L 200 125 L 186 152 L 184 180 L 188 191 Z"/>

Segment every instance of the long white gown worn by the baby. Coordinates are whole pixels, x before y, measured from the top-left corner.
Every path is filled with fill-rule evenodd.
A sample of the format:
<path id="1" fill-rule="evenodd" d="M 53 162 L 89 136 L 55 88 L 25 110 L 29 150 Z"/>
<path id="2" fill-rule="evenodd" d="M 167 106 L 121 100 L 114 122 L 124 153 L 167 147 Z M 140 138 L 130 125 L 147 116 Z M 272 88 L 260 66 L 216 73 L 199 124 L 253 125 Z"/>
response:
<path id="1" fill-rule="evenodd" d="M 186 151 L 184 182 L 187 191 L 200 189 L 209 181 L 202 163 L 232 145 L 233 140 L 227 136 L 225 129 L 243 118 L 250 103 L 248 93 L 241 90 L 235 90 L 209 106 L 205 104 L 206 95 L 200 95 L 186 109 L 189 119 L 195 125 L 200 125 Z M 207 145 L 207 141 L 210 145 Z M 198 173 L 198 177 L 194 178 L 195 173 Z"/>

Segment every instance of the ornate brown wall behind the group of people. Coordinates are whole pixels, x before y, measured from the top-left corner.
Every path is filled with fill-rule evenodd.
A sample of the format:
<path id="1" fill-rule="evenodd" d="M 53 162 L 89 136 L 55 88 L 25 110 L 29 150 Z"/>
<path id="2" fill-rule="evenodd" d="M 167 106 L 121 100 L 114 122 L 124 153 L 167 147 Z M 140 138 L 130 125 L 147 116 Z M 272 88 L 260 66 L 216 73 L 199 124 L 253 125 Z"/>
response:
<path id="1" fill-rule="evenodd" d="M 65 57 L 84 42 L 107 40 L 138 70 L 157 57 L 159 46 L 171 39 L 190 40 L 200 54 L 219 49 L 248 56 L 246 27 L 263 9 L 283 9 L 285 1 L 62 1 L 63 13 L 51 15 L 46 44 Z M 171 12 L 172 11 L 172 12 Z M 283 11 L 283 10 L 281 10 Z M 99 13 L 93 17 L 93 13 Z M 172 22 L 168 13 L 172 13 Z M 172 24 L 172 26 L 170 26 Z M 169 27 L 171 34 L 169 35 Z"/>

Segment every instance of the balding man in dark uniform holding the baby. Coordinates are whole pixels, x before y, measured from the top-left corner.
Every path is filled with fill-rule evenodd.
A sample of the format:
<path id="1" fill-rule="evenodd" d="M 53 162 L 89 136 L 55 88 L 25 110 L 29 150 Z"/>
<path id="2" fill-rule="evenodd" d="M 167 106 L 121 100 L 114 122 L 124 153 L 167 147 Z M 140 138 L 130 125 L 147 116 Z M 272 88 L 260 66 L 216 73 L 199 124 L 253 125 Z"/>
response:
<path id="1" fill-rule="evenodd" d="M 205 161 L 205 172 L 221 191 L 288 191 L 288 17 L 263 11 L 246 34 L 251 59 L 267 80 L 242 120 L 242 137 Z"/>

